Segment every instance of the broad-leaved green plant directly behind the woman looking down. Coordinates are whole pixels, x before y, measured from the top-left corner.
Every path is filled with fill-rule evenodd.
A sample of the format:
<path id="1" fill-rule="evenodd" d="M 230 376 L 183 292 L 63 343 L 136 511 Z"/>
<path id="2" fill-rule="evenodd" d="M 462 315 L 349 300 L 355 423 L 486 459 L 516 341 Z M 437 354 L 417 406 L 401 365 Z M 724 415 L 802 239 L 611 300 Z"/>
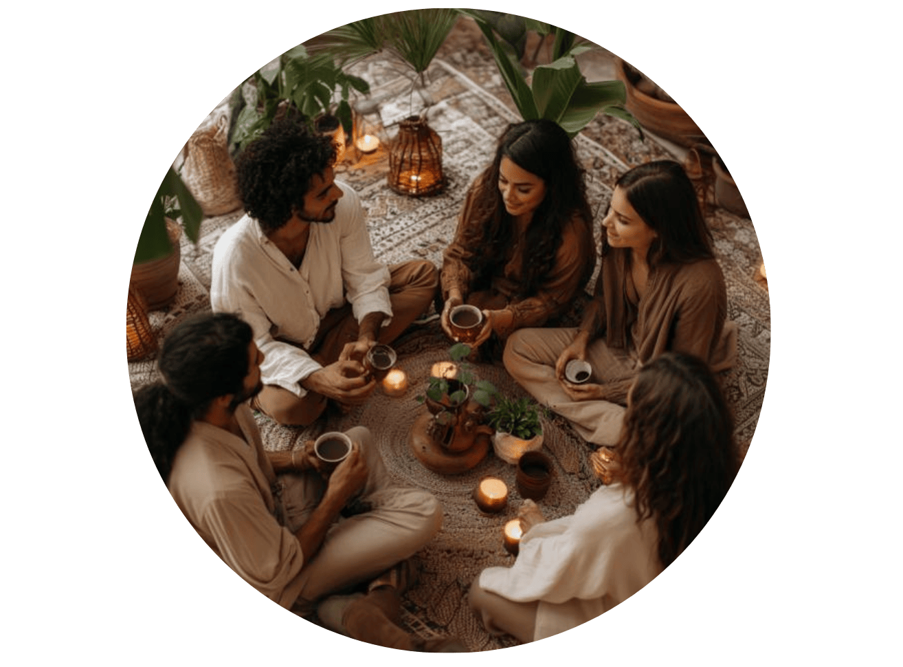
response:
<path id="1" fill-rule="evenodd" d="M 576 56 L 591 50 L 590 42 L 578 39 L 578 35 L 559 26 L 551 26 L 555 35 L 554 60 L 536 67 L 532 81 L 527 84 L 524 72 L 513 61 L 504 42 L 499 41 L 487 17 L 478 10 L 460 11 L 479 25 L 502 80 L 524 120 L 554 120 L 573 137 L 602 112 L 627 120 L 643 136 L 638 120 L 623 107 L 627 100 L 624 84 L 621 81 L 589 82 L 582 75 Z M 544 29 L 541 24 L 535 23 L 541 30 Z M 537 27 L 534 23 L 528 25 L 533 29 Z"/>

